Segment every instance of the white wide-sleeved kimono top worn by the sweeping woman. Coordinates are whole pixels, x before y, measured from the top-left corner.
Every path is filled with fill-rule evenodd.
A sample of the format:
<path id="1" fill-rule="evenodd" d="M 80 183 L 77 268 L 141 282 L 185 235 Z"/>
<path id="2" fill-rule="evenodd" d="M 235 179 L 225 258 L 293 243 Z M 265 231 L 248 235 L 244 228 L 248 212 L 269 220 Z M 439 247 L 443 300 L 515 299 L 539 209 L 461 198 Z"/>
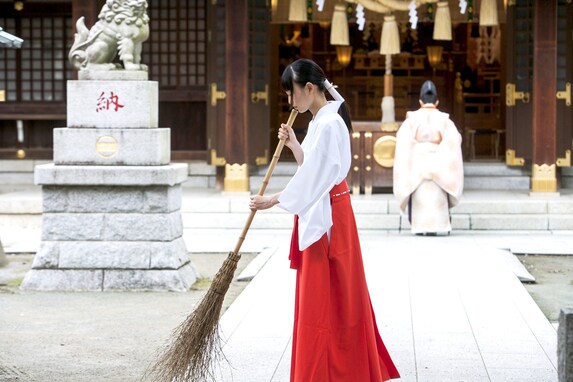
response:
<path id="1" fill-rule="evenodd" d="M 278 206 L 298 215 L 299 250 L 318 241 L 332 227 L 330 190 L 348 174 L 351 162 L 350 136 L 338 109 L 330 101 L 308 125 L 301 144 L 302 165 L 281 192 Z"/>

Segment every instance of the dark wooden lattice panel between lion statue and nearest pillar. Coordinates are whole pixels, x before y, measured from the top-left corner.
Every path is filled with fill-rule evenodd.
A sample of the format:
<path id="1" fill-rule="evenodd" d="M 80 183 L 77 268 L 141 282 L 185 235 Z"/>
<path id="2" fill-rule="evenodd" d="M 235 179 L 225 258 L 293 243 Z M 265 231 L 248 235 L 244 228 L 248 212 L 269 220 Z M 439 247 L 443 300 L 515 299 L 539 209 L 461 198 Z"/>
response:
<path id="1" fill-rule="evenodd" d="M 159 82 L 159 125 L 171 128 L 172 158 L 207 150 L 207 2 L 148 0 L 149 40 L 142 61 Z"/>

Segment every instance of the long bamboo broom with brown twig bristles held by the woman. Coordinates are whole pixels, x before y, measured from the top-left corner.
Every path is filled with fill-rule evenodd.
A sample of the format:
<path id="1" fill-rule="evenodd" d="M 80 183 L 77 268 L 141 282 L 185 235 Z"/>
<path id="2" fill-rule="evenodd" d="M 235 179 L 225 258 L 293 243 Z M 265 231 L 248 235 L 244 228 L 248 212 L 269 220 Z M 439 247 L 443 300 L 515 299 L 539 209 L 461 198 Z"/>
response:
<path id="1" fill-rule="evenodd" d="M 292 127 L 297 114 L 296 110 L 291 111 L 287 121 L 289 127 Z M 259 195 L 265 193 L 284 144 L 284 140 L 279 140 L 269 169 L 259 189 Z M 183 382 L 214 379 L 213 361 L 219 361 L 223 358 L 219 336 L 219 316 L 225 294 L 233 281 L 237 263 L 241 258 L 239 250 L 255 213 L 256 211 L 251 211 L 235 249 L 229 252 L 227 259 L 215 275 L 207 294 L 197 308 L 187 316 L 187 319 L 175 328 L 171 343 L 167 345 L 156 363 L 151 367 L 150 374 L 156 377 L 155 380 Z"/>

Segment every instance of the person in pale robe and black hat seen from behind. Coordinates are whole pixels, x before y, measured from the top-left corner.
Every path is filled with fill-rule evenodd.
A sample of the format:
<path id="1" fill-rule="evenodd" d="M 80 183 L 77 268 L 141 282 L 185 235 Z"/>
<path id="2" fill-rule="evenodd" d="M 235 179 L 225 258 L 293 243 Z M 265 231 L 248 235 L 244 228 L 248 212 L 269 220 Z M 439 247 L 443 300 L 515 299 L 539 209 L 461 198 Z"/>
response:
<path id="1" fill-rule="evenodd" d="M 396 134 L 394 195 L 414 234 L 449 234 L 450 208 L 463 191 L 462 137 L 438 103 L 436 86 L 424 82 L 420 109 L 406 114 Z"/>

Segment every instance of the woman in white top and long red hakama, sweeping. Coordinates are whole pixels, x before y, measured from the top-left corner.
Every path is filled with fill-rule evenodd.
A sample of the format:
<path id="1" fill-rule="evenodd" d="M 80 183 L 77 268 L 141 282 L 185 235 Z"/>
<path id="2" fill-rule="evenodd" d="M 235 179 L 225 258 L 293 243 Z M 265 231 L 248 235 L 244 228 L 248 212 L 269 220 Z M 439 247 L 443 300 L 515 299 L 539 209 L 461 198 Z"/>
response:
<path id="1" fill-rule="evenodd" d="M 282 192 L 251 197 L 250 208 L 278 205 L 295 214 L 291 382 L 399 378 L 376 327 L 345 180 L 351 162 L 347 106 L 311 60 L 287 66 L 282 87 L 292 107 L 310 111 L 313 119 L 302 144 L 281 125 L 279 139 L 292 150 L 298 171 Z M 327 101 L 326 90 L 334 101 Z"/>

